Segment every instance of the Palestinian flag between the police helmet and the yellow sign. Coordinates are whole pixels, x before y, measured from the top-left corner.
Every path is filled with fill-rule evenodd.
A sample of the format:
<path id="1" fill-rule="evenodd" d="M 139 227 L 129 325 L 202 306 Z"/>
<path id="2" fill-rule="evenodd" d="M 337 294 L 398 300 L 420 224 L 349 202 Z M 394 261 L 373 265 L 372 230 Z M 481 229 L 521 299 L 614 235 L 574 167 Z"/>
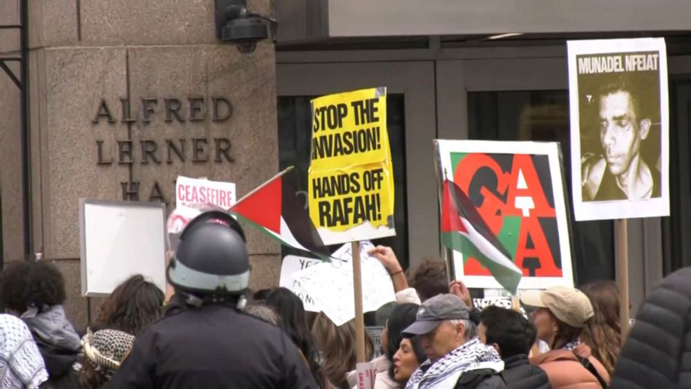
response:
<path id="1" fill-rule="evenodd" d="M 328 251 L 314 228 L 304 201 L 297 198 L 286 173 L 289 167 L 241 198 L 230 214 L 264 231 L 283 245 L 323 256 Z"/>

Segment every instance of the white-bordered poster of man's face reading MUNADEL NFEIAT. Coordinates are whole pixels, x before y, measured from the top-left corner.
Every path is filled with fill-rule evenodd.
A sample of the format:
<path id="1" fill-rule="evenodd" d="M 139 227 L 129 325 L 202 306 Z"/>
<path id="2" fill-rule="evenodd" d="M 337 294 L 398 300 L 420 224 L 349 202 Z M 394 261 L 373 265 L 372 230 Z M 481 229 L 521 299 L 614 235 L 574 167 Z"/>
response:
<path id="1" fill-rule="evenodd" d="M 569 41 L 576 220 L 669 214 L 663 39 Z"/>

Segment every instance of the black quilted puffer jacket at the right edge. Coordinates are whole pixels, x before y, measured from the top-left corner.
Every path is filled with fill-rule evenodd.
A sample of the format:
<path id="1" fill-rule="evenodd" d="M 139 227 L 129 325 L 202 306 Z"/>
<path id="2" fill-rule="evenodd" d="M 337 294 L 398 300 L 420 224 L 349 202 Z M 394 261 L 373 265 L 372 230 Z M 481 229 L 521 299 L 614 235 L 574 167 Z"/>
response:
<path id="1" fill-rule="evenodd" d="M 691 267 L 650 293 L 619 354 L 610 388 L 691 387 Z"/>

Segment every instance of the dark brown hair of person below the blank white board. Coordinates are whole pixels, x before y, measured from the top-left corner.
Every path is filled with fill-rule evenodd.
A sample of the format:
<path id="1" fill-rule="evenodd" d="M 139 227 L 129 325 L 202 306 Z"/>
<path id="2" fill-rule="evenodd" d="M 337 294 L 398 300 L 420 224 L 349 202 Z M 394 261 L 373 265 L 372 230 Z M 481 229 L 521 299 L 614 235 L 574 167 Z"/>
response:
<path id="1" fill-rule="evenodd" d="M 141 274 L 117 285 L 101 305 L 92 330 L 118 330 L 138 336 L 161 316 L 164 294 Z"/>

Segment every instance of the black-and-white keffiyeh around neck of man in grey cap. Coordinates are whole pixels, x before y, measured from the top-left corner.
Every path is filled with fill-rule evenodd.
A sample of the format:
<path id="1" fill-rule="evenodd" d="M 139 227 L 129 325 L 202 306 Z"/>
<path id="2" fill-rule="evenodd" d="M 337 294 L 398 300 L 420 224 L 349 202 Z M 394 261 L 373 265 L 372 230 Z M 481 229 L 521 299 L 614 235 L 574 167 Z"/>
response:
<path id="1" fill-rule="evenodd" d="M 410 377 L 406 389 L 453 388 L 461 374 L 470 370 L 504 370 L 504 361 L 494 348 L 474 338 L 446 354 L 439 361 L 429 359 Z"/>

